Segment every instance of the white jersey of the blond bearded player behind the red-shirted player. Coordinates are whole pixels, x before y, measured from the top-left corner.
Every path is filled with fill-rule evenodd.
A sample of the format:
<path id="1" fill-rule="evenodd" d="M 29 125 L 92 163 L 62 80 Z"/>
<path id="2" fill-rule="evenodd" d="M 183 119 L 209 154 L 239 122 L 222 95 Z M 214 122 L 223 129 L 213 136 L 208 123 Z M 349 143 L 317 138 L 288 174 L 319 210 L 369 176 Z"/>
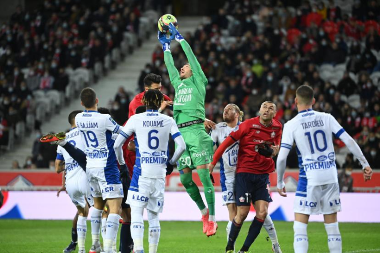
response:
<path id="1" fill-rule="evenodd" d="M 240 122 L 238 122 L 238 125 Z M 234 128 L 227 126 L 227 123 L 222 122 L 216 125 L 210 133 L 214 145 L 219 146 L 230 135 Z M 220 176 L 223 179 L 235 178 L 236 166 L 238 164 L 239 142 L 235 142 L 224 151 L 220 159 Z M 224 178 L 223 178 L 224 177 Z"/>

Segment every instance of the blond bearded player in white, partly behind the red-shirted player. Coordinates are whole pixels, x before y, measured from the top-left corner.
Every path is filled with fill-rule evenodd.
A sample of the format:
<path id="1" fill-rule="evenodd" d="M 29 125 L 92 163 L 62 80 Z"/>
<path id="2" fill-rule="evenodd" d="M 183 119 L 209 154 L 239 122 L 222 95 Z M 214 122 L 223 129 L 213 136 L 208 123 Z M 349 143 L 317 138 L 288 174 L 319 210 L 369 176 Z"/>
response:
<path id="1" fill-rule="evenodd" d="M 223 120 L 225 122 L 216 125 L 216 128 L 210 132 L 211 139 L 214 142 L 214 149 L 230 135 L 236 126 L 242 121 L 244 113 L 240 111 L 236 104 L 228 104 L 223 111 Z M 230 234 L 232 221 L 237 215 L 237 206 L 235 200 L 235 176 L 236 166 L 238 164 L 239 141 L 232 144 L 223 153 L 220 159 L 220 184 L 222 186 L 223 205 L 227 206 L 230 221 L 227 224 L 227 240 Z M 275 253 L 281 253 L 278 243 L 277 233 L 271 216 L 268 214 L 264 221 L 265 230 L 272 241 L 272 249 Z"/>

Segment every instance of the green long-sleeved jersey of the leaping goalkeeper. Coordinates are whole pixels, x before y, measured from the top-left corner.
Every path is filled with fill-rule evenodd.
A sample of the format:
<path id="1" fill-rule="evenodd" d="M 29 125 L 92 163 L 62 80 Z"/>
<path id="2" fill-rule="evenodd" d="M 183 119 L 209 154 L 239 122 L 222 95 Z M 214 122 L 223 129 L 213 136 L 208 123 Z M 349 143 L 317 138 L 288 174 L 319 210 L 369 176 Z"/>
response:
<path id="1" fill-rule="evenodd" d="M 180 74 L 174 66 L 173 56 L 170 50 L 164 51 L 164 59 L 170 82 L 176 91 L 173 113 L 177 124 L 205 119 L 204 99 L 207 85 L 207 78 L 192 52 L 189 43 L 183 40 L 180 44 L 189 60 L 192 71 L 192 75 L 188 79 L 181 80 Z M 203 127 L 203 125 L 200 126 Z"/>

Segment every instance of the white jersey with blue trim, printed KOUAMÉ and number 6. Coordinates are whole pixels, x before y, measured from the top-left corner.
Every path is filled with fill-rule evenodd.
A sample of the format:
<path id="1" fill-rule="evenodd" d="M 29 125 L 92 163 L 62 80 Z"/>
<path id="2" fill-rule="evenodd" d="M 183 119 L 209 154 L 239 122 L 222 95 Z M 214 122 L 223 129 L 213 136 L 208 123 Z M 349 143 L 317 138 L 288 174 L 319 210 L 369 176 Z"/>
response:
<path id="1" fill-rule="evenodd" d="M 128 139 L 133 133 L 136 146 L 133 173 L 148 178 L 164 178 L 169 159 L 169 135 L 173 139 L 181 135 L 176 122 L 156 110 L 146 110 L 129 118 L 119 134 Z"/>

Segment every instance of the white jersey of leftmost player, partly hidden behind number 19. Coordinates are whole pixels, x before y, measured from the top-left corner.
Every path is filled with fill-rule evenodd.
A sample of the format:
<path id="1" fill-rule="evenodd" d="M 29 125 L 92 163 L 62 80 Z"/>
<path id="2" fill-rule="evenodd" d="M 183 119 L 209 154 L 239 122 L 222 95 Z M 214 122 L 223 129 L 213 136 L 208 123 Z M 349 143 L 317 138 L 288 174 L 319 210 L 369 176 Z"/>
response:
<path id="1" fill-rule="evenodd" d="M 77 127 L 72 128 L 69 132 L 66 133 L 66 140 L 71 143 L 73 146 L 84 151 L 85 143 L 82 138 L 82 133 Z M 65 161 L 65 170 L 66 170 L 66 181 L 69 181 L 70 178 L 75 177 L 78 173 L 85 172 L 75 161 L 67 151 L 58 145 L 57 147 L 57 159 Z"/>

